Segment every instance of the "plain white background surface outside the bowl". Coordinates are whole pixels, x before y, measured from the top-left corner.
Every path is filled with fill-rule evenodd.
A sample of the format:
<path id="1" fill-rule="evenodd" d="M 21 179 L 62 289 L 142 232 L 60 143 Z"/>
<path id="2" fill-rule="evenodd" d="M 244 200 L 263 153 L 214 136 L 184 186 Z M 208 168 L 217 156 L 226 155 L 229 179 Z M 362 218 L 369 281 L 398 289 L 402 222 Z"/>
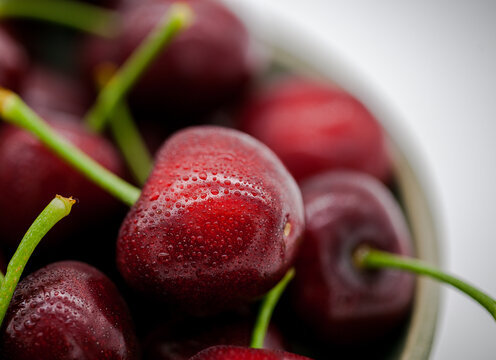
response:
<path id="1" fill-rule="evenodd" d="M 288 20 L 367 76 L 427 171 L 445 267 L 496 295 L 496 1 L 230 2 Z M 495 359 L 494 320 L 443 295 L 431 358 Z"/>

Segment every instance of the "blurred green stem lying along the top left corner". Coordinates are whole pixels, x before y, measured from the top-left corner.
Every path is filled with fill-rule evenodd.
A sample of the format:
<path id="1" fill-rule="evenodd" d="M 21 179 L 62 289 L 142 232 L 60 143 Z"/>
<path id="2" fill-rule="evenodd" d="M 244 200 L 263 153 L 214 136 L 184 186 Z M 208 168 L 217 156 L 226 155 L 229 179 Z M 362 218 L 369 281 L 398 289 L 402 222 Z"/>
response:
<path id="1" fill-rule="evenodd" d="M 10 17 L 48 21 L 104 37 L 115 36 L 119 19 L 114 11 L 76 1 L 0 1 L 0 19 Z"/>

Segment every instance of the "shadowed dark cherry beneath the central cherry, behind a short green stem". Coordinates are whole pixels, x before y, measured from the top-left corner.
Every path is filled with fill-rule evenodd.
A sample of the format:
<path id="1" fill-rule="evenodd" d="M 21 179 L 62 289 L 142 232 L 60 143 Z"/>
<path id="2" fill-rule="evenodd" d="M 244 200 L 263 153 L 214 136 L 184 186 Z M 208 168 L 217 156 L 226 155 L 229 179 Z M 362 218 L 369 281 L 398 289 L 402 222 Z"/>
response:
<path id="1" fill-rule="evenodd" d="M 188 360 L 201 350 L 215 345 L 249 346 L 254 321 L 215 317 L 189 319 L 166 324 L 151 333 L 144 346 L 144 360 Z M 283 350 L 283 339 L 271 325 L 264 342 L 265 349 Z"/>

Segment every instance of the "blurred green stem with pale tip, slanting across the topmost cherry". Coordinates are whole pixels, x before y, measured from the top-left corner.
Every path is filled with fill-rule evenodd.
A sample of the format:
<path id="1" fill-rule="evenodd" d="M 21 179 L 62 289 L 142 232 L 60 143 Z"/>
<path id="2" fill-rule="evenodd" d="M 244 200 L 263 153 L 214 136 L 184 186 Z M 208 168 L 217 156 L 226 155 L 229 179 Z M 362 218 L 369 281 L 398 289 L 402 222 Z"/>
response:
<path id="1" fill-rule="evenodd" d="M 177 34 L 193 21 L 191 8 L 185 3 L 174 3 L 157 26 L 131 54 L 124 65 L 100 91 L 96 103 L 86 114 L 86 124 L 100 132 L 115 107 L 139 80 L 161 51 Z"/>

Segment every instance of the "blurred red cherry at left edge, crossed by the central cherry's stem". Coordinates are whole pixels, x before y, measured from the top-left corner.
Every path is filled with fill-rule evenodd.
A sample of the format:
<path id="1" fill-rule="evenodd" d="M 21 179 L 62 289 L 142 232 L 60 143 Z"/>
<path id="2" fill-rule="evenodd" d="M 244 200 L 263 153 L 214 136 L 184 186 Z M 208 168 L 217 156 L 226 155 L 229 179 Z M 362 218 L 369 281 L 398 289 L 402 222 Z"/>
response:
<path id="1" fill-rule="evenodd" d="M 110 171 L 124 173 L 117 150 L 104 138 L 87 132 L 67 114 L 40 113 L 50 125 Z M 56 194 L 79 200 L 71 221 L 62 220 L 42 245 L 68 239 L 95 219 L 102 221 L 120 204 L 76 170 L 52 154 L 24 130 L 6 125 L 0 129 L 0 240 L 15 246 L 36 216 Z"/>

